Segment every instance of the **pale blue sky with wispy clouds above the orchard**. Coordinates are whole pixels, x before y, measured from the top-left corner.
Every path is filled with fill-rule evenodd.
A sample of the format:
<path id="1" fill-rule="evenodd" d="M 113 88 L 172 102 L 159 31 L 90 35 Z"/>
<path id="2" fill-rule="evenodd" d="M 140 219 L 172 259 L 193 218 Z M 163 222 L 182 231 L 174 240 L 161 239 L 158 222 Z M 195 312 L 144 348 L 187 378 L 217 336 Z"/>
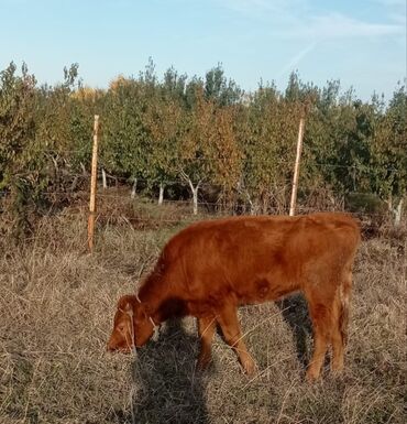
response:
<path id="1" fill-rule="evenodd" d="M 388 99 L 406 77 L 406 0 L 0 0 L 0 68 L 24 61 L 55 84 L 77 62 L 85 85 L 138 75 L 151 56 L 204 76 L 218 63 L 243 89 L 298 69 Z"/>

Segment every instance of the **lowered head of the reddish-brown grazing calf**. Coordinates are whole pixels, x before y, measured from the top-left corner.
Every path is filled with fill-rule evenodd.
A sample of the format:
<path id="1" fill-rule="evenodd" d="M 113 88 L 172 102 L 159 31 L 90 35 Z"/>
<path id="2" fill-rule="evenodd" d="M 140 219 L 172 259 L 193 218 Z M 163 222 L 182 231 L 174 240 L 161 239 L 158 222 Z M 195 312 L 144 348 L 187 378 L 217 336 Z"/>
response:
<path id="1" fill-rule="evenodd" d="M 129 354 L 133 347 L 143 346 L 154 333 L 154 323 L 138 296 L 125 295 L 118 302 L 113 330 L 108 350 Z"/>

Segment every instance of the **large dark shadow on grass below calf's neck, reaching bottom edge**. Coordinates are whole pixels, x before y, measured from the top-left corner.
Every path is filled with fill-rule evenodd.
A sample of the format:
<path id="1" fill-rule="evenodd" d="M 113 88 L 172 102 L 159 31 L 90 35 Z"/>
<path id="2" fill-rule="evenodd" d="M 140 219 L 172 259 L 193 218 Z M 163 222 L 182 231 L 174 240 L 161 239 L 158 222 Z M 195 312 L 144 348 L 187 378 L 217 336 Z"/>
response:
<path id="1" fill-rule="evenodd" d="M 157 343 L 141 348 L 132 365 L 132 414 L 123 422 L 205 424 L 205 388 L 195 371 L 197 338 L 168 320 Z"/>

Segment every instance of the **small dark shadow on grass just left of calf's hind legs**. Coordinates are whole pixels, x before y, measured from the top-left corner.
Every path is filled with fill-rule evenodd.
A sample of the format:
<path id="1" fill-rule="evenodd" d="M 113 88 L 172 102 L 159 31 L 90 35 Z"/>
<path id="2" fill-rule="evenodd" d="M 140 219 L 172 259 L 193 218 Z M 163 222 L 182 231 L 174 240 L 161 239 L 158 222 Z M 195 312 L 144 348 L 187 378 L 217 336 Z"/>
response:
<path id="1" fill-rule="evenodd" d="M 307 349 L 307 338 L 312 336 L 307 301 L 301 294 L 296 294 L 276 302 L 276 305 L 282 311 L 284 320 L 293 330 L 298 361 L 306 369 L 310 357 Z"/>

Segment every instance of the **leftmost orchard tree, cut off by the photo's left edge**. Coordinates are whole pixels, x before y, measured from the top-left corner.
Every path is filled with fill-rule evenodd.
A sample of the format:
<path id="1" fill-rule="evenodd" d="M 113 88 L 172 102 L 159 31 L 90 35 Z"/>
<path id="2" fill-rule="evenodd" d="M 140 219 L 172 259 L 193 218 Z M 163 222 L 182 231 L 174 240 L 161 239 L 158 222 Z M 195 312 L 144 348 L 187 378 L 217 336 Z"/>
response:
<path id="1" fill-rule="evenodd" d="M 11 63 L 0 73 L 0 189 L 11 194 L 18 236 L 31 229 L 29 209 L 36 209 L 47 184 L 42 146 L 35 142 L 36 80 L 25 64 L 21 75 Z"/>

